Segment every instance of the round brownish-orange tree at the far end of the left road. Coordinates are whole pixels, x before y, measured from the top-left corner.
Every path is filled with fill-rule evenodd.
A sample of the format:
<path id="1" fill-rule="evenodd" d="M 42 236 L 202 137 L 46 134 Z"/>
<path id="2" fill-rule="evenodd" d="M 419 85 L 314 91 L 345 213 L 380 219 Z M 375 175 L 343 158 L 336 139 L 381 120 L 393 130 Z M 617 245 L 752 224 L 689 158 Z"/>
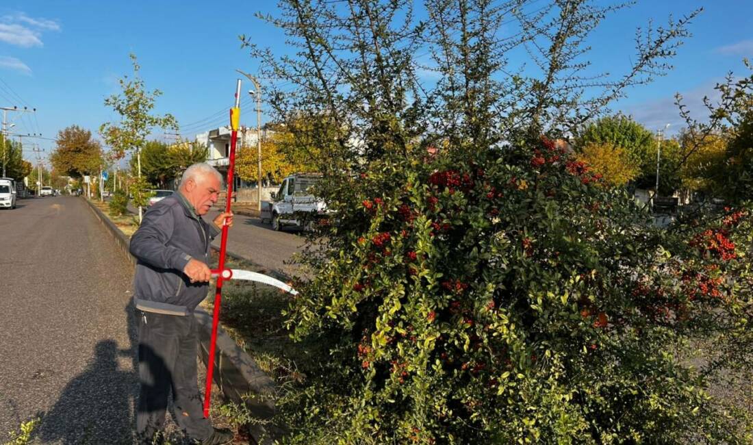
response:
<path id="1" fill-rule="evenodd" d="M 78 125 L 68 126 L 57 133 L 56 148 L 50 162 L 61 175 L 83 178 L 99 173 L 103 163 L 102 146 L 92 139 L 92 133 Z"/>

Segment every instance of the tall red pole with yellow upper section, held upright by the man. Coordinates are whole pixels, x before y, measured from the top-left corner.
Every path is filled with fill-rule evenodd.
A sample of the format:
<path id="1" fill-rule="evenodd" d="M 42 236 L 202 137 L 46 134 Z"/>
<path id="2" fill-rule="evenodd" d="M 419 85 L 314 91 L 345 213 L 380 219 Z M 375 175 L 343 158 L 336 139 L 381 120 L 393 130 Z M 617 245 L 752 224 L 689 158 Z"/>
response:
<path id="1" fill-rule="evenodd" d="M 238 125 L 240 122 L 240 79 L 236 81 L 236 102 L 230 108 L 230 164 L 227 166 L 227 201 L 225 212 L 230 212 L 230 200 L 233 195 L 233 172 L 235 169 L 235 149 L 238 142 Z M 225 269 L 225 253 L 227 251 L 227 225 L 222 225 L 222 238 L 220 242 L 219 270 Z M 217 325 L 220 320 L 220 303 L 222 301 L 222 282 L 220 274 L 217 277 L 217 290 L 215 291 L 215 311 L 212 317 L 212 340 L 209 342 L 209 358 L 206 364 L 206 389 L 204 391 L 204 417 L 209 417 L 209 404 L 212 401 L 212 374 L 215 370 L 215 345 L 217 343 Z"/>

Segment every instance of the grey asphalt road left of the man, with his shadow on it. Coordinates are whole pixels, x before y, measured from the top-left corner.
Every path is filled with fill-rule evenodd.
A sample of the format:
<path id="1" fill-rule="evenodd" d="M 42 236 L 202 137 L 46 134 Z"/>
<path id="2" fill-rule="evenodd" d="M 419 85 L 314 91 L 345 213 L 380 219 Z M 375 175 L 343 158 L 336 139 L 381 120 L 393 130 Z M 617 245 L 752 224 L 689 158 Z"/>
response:
<path id="1" fill-rule="evenodd" d="M 132 267 L 84 200 L 0 210 L 0 443 L 130 443 L 137 382 Z"/>

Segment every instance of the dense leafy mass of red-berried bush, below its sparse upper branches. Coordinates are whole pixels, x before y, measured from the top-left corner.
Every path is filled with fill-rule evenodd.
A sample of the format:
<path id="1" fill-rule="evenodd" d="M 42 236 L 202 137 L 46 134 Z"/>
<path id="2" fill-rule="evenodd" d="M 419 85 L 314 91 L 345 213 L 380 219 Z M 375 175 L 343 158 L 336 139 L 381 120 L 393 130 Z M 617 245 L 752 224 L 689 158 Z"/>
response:
<path id="1" fill-rule="evenodd" d="M 660 230 L 547 139 L 364 167 L 322 182 L 337 218 L 287 315 L 331 353 L 279 401 L 288 441 L 750 439 L 709 395 L 745 365 L 747 211 Z"/>

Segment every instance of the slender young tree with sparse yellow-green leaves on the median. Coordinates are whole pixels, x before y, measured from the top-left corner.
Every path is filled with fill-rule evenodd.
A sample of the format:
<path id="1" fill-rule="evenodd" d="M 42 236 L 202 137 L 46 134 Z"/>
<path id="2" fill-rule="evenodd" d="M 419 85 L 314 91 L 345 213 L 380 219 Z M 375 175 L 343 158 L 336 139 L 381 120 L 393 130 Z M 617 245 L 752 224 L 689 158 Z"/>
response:
<path id="1" fill-rule="evenodd" d="M 129 151 L 136 151 L 136 166 L 138 175 L 141 176 L 141 150 L 154 127 L 162 127 L 177 130 L 178 123 L 171 114 L 163 116 L 151 114 L 154 109 L 154 101 L 162 95 L 160 90 L 146 90 L 145 82 L 139 77 L 139 63 L 136 54 L 131 53 L 130 59 L 133 64 L 133 78 L 127 75 L 120 79 L 122 96 L 112 95 L 105 99 L 105 105 L 111 107 L 120 115 L 120 123 L 105 122 L 99 126 L 99 133 L 105 138 L 105 142 L 112 147 L 117 159 L 123 157 Z M 145 184 L 137 181 L 138 186 Z M 144 190 L 139 190 L 142 194 Z M 139 223 L 141 222 L 142 206 L 139 206 Z"/>

